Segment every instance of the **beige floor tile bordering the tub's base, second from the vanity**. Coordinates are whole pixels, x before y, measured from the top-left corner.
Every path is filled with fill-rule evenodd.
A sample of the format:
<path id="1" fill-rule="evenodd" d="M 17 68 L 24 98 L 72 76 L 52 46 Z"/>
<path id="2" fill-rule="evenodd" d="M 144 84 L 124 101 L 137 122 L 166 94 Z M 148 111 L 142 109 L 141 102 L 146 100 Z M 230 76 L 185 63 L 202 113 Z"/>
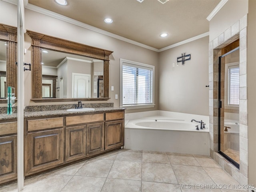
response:
<path id="1" fill-rule="evenodd" d="M 170 164 L 166 152 L 142 151 L 142 162 Z"/>

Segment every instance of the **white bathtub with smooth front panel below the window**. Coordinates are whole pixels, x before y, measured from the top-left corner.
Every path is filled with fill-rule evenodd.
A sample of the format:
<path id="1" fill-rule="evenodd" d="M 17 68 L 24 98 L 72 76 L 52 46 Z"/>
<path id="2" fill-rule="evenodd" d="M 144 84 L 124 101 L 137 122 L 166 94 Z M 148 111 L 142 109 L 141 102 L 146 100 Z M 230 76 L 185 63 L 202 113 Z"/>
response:
<path id="1" fill-rule="evenodd" d="M 208 116 L 182 114 L 142 117 L 126 120 L 124 128 L 124 148 L 187 154 L 209 155 Z M 166 115 L 166 114 L 165 114 Z M 199 123 L 190 122 L 192 118 L 206 122 L 206 129 L 196 130 Z M 208 119 L 207 119 L 208 118 Z"/>

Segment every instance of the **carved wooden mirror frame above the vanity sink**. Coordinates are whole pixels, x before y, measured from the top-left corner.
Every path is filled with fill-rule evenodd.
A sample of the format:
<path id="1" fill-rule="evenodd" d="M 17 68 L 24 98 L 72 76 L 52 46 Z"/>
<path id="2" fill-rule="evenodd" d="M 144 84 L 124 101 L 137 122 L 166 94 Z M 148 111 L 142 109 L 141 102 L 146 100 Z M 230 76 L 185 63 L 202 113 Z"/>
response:
<path id="1" fill-rule="evenodd" d="M 104 50 L 44 34 L 27 30 L 32 39 L 32 101 L 34 102 L 58 102 L 58 101 L 94 101 L 108 100 L 109 96 L 109 56 L 112 51 Z M 82 55 L 94 59 L 103 60 L 104 98 L 42 98 L 42 55 L 41 49 L 46 48 L 59 52 Z"/>

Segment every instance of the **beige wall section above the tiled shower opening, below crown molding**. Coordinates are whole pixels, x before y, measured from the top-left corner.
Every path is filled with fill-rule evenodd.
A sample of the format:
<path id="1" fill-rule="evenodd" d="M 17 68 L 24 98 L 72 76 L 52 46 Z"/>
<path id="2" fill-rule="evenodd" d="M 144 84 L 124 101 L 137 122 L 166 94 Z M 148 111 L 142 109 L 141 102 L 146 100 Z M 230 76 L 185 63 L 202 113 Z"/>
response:
<path id="1" fill-rule="evenodd" d="M 214 40 L 247 13 L 248 0 L 229 0 L 210 20 L 209 41 Z"/>

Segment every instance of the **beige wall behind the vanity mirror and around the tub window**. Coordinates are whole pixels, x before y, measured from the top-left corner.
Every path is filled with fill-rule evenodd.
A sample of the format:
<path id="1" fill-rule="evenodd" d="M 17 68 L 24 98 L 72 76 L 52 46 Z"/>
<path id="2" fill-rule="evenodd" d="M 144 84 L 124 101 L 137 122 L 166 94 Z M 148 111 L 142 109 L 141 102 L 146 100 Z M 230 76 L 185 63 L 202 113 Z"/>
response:
<path id="1" fill-rule="evenodd" d="M 85 28 L 75 26 L 73 24 L 57 20 L 55 18 L 27 9 L 25 10 L 25 28 L 43 34 L 48 34 L 50 36 L 56 36 L 58 38 L 63 38 L 74 42 L 86 44 L 89 46 L 95 46 L 113 51 L 113 53 L 110 55 L 109 86 L 114 86 L 114 91 L 109 92 L 109 96 L 111 99 L 107 102 L 114 102 L 114 106 L 120 106 L 120 58 L 156 66 L 155 84 L 158 85 L 158 52 L 154 52 L 152 50 L 148 50 L 140 46 L 136 46 L 121 40 L 117 40 L 115 38 L 111 38 L 109 36 L 93 32 L 91 30 L 87 30 Z M 25 55 L 25 62 L 31 61 L 30 43 L 31 39 L 26 35 L 25 48 L 28 51 L 27 54 Z M 31 74 L 25 73 L 24 80 L 25 92 L 28 91 L 31 93 Z M 155 86 L 155 92 L 155 108 L 147 108 L 142 110 L 126 110 L 126 112 L 158 109 L 158 86 Z M 118 94 L 118 100 L 115 99 L 115 94 Z M 62 104 L 59 102 L 34 103 L 30 102 L 30 97 L 25 98 L 25 106 L 38 104 Z"/>

